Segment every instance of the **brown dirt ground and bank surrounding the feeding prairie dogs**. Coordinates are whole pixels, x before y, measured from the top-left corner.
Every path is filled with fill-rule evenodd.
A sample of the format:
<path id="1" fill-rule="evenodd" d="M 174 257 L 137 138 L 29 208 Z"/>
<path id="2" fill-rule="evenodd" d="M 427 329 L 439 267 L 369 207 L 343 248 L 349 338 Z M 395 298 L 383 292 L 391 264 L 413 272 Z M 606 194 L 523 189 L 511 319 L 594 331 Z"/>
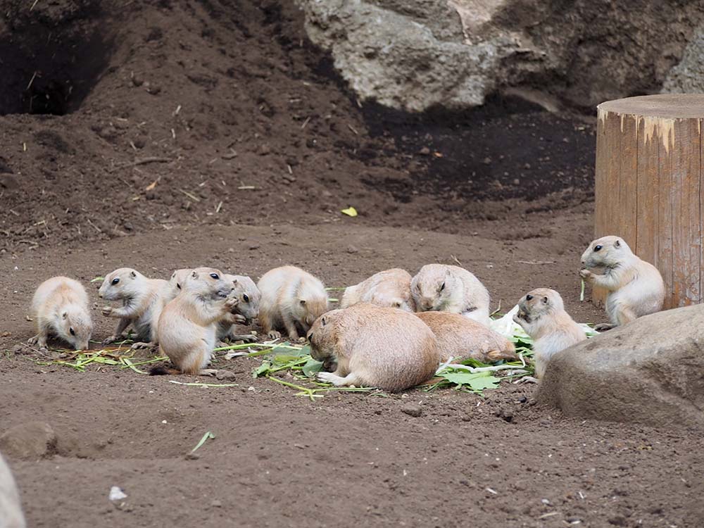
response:
<path id="1" fill-rule="evenodd" d="M 289 1 L 19 5 L 0 1 L 0 434 L 39 420 L 58 436 L 10 460 L 29 526 L 704 524 L 700 432 L 565 418 L 534 386 L 310 402 L 252 379 L 256 358 L 218 358 L 238 386 L 205 389 L 15 352 L 42 279 L 122 265 L 256 278 L 290 263 L 344 286 L 456 259 L 494 307 L 545 286 L 601 318 L 577 275 L 589 120 L 498 99 L 464 115 L 359 105 Z"/>

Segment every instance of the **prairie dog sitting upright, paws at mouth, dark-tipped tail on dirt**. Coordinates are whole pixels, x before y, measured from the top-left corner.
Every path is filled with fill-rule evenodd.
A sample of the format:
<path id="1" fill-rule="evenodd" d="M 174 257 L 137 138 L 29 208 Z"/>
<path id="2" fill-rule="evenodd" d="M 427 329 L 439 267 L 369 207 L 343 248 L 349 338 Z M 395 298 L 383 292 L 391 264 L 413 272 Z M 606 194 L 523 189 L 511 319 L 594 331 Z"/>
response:
<path id="1" fill-rule="evenodd" d="M 234 287 L 220 270 L 196 268 L 181 284 L 181 292 L 161 312 L 158 322 L 159 349 L 168 356 L 177 372 L 210 375 L 206 369 L 215 348 L 216 327 L 237 306 Z M 152 375 L 172 374 L 155 367 Z"/>

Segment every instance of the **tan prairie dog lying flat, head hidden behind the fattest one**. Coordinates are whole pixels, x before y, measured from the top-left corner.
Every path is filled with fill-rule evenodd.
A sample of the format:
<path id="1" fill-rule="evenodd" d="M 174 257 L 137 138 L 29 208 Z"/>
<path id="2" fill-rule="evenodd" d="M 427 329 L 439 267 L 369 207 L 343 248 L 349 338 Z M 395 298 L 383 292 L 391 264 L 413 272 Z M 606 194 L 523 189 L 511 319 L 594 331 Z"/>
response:
<path id="1" fill-rule="evenodd" d="M 420 312 L 415 314 L 435 334 L 441 360 L 474 358 L 482 363 L 515 360 L 516 348 L 511 341 L 482 323 L 458 313 Z"/>

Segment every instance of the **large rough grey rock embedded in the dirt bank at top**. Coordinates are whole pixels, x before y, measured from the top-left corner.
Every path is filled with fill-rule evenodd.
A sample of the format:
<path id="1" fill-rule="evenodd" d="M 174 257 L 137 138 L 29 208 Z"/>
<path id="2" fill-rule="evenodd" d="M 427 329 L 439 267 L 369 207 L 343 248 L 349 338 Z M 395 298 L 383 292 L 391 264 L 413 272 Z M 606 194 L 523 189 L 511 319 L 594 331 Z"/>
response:
<path id="1" fill-rule="evenodd" d="M 406 111 L 503 89 L 583 108 L 658 92 L 704 21 L 686 0 L 296 1 L 358 97 Z"/>

